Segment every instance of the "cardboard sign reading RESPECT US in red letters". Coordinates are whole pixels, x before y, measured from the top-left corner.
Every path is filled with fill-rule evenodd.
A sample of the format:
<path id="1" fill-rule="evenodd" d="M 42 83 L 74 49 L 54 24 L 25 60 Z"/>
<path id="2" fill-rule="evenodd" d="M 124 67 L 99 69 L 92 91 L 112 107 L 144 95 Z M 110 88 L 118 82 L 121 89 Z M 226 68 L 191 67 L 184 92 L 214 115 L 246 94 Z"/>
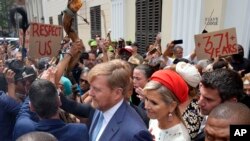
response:
<path id="1" fill-rule="evenodd" d="M 62 40 L 62 26 L 31 23 L 26 31 L 28 38 L 28 55 L 31 58 L 56 56 Z"/>

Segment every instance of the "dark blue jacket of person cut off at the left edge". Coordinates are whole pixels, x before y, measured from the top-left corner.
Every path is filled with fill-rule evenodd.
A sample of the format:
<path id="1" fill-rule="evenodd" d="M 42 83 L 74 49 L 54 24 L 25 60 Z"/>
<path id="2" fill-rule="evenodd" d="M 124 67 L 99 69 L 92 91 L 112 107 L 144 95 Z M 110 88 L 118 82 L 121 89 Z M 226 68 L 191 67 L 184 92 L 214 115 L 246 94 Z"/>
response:
<path id="1" fill-rule="evenodd" d="M 11 141 L 21 104 L 0 91 L 0 141 Z"/>

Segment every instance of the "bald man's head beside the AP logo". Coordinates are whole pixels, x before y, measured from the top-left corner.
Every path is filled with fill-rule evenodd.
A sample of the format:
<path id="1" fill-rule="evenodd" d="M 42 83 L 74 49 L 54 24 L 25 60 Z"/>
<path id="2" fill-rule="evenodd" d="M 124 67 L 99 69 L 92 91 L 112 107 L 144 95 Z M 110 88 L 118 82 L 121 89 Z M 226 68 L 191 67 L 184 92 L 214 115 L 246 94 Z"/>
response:
<path id="1" fill-rule="evenodd" d="M 205 141 L 229 141 L 230 125 L 250 125 L 250 109 L 241 103 L 225 102 L 212 110 L 205 126 Z"/>

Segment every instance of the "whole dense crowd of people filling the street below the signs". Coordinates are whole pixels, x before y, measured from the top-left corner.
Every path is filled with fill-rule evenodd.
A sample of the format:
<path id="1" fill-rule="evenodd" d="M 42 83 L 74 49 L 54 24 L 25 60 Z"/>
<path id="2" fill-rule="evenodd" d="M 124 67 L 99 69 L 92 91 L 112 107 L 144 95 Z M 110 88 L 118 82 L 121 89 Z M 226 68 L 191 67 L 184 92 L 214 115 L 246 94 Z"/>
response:
<path id="1" fill-rule="evenodd" d="M 241 45 L 197 60 L 160 42 L 139 54 L 121 38 L 96 36 L 87 50 L 65 37 L 57 56 L 43 58 L 3 42 L 0 141 L 227 141 L 231 124 L 250 125 L 250 60 Z"/>

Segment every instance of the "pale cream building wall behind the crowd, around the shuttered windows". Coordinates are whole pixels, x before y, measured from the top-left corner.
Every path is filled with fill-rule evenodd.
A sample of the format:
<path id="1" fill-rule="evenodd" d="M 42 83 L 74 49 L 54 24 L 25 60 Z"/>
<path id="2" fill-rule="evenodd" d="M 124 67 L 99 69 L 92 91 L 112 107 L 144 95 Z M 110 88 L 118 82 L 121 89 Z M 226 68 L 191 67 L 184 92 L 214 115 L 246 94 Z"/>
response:
<path id="1" fill-rule="evenodd" d="M 102 37 L 111 29 L 111 37 L 117 40 L 135 40 L 136 0 L 82 0 L 84 5 L 78 14 L 90 21 L 90 7 L 101 6 Z M 29 20 L 58 24 L 58 15 L 65 9 L 67 0 L 27 0 Z M 45 8 L 46 7 L 46 8 Z M 249 0 L 162 0 L 162 47 L 174 39 L 184 40 L 184 55 L 194 49 L 194 35 L 206 30 L 216 31 L 236 27 L 238 43 L 248 55 L 250 45 Z M 208 25 L 206 25 L 209 23 Z M 78 17 L 78 33 L 87 45 L 90 25 Z"/>

